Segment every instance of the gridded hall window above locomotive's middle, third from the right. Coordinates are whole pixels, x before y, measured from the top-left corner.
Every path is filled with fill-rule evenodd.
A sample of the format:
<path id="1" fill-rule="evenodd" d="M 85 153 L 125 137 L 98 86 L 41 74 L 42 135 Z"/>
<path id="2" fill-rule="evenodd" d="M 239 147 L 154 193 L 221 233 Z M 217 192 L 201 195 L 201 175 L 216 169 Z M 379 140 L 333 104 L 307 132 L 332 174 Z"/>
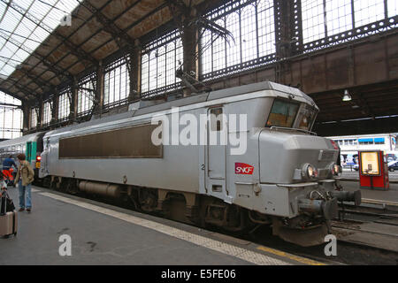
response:
<path id="1" fill-rule="evenodd" d="M 142 97 L 180 88 L 180 79 L 175 72 L 182 65 L 182 60 L 182 42 L 178 31 L 149 42 L 142 52 Z"/>

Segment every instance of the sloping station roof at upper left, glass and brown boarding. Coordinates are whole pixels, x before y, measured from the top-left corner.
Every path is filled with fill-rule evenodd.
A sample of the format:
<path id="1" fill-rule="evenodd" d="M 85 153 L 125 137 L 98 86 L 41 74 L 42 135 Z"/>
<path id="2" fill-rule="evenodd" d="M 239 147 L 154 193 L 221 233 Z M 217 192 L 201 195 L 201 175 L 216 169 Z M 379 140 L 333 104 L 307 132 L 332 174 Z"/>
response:
<path id="1" fill-rule="evenodd" d="M 65 11 L 73 11 L 71 25 L 67 18 L 59 25 Z M 0 29 L 8 55 L 0 57 L 0 90 L 30 100 L 134 44 L 172 13 L 167 0 L 0 0 L 0 19 L 10 23 Z"/>

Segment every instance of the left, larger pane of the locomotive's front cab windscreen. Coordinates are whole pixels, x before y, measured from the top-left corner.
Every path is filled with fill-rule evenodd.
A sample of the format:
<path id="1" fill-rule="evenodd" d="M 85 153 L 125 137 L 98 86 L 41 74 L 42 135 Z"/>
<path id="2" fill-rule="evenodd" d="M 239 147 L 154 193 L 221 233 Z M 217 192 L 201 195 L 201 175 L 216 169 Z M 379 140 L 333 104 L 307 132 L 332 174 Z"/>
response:
<path id="1" fill-rule="evenodd" d="M 298 108 L 298 103 L 275 99 L 266 126 L 292 127 Z"/>

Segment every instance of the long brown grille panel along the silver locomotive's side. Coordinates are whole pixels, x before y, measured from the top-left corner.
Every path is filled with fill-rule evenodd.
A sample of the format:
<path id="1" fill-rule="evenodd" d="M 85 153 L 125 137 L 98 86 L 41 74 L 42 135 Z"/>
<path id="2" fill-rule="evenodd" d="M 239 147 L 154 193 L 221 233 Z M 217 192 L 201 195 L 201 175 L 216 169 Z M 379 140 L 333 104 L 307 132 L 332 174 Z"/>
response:
<path id="1" fill-rule="evenodd" d="M 131 126 L 59 140 L 59 159 L 66 158 L 161 158 L 162 145 L 151 142 L 157 125 Z"/>

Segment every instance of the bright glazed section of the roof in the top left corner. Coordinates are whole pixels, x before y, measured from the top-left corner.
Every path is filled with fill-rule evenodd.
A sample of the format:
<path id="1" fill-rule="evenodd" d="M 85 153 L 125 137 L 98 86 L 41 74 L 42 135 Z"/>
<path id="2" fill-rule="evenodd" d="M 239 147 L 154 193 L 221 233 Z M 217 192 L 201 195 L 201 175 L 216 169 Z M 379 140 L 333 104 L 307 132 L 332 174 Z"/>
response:
<path id="1" fill-rule="evenodd" d="M 0 0 L 0 78 L 14 72 L 78 4 L 77 0 Z"/>

